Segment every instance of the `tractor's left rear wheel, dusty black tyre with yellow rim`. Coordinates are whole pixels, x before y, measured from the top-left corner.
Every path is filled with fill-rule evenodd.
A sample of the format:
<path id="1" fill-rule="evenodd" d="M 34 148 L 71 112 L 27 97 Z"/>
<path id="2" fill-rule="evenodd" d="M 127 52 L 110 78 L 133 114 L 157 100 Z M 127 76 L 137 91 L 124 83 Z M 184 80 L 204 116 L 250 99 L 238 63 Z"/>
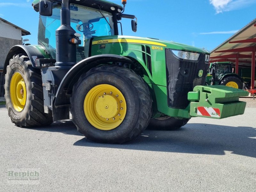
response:
<path id="1" fill-rule="evenodd" d="M 40 71 L 32 67 L 27 56 L 16 55 L 10 60 L 4 89 L 8 115 L 16 126 L 36 127 L 52 123 L 52 113 L 44 113 Z"/>

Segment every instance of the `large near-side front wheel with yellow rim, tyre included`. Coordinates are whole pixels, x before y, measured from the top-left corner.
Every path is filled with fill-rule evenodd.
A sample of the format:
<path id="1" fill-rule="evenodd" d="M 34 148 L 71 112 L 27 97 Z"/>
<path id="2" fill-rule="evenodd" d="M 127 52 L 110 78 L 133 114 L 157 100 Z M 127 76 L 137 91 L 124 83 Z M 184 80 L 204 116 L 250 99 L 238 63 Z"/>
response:
<path id="1" fill-rule="evenodd" d="M 123 143 L 140 135 L 151 117 L 147 84 L 130 69 L 102 65 L 82 75 L 70 98 L 72 121 L 87 139 Z"/>

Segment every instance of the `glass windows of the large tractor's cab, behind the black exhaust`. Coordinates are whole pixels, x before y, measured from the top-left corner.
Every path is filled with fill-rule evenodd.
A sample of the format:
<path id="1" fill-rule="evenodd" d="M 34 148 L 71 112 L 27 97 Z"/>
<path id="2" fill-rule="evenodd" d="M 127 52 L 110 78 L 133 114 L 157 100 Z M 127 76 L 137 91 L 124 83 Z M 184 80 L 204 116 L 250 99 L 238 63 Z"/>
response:
<path id="1" fill-rule="evenodd" d="M 39 20 L 38 44 L 46 47 L 53 58 L 56 57 L 55 31 L 60 27 L 60 9 L 61 6 L 54 7 L 51 17 L 40 16 Z M 115 34 L 113 16 L 109 12 L 70 4 L 70 17 L 71 27 L 81 35 L 82 43 L 77 46 L 77 62 L 89 57 L 89 40 L 92 37 Z"/>

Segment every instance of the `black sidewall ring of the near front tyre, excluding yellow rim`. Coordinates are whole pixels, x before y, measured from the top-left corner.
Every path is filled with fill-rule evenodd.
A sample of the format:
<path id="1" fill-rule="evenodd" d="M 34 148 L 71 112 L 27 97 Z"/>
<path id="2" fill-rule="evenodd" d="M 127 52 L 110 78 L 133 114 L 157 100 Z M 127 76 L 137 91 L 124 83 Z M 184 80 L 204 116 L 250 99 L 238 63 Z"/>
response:
<path id="1" fill-rule="evenodd" d="M 116 87 L 122 92 L 126 100 L 127 110 L 124 121 L 115 129 L 108 131 L 100 130 L 92 126 L 84 114 L 85 96 L 93 87 L 99 84 L 109 84 Z M 124 135 L 130 134 L 138 121 L 140 112 L 139 96 L 137 95 L 136 89 L 132 85 L 131 81 L 125 77 L 121 77 L 116 74 L 113 76 L 113 74 L 109 72 L 92 73 L 89 76 L 85 76 L 83 80 L 80 81 L 80 84 L 76 87 L 74 95 L 74 103 L 71 107 L 76 108 L 76 112 L 74 114 L 76 123 L 80 129 L 83 129 L 82 132 L 85 133 L 88 139 L 96 139 L 102 142 L 109 140 L 116 141 L 120 138 L 120 135 L 123 135 L 122 137 L 124 137 Z M 81 113 L 77 113 L 77 111 L 81 111 Z M 97 135 L 97 138 L 94 138 L 94 135 Z"/>

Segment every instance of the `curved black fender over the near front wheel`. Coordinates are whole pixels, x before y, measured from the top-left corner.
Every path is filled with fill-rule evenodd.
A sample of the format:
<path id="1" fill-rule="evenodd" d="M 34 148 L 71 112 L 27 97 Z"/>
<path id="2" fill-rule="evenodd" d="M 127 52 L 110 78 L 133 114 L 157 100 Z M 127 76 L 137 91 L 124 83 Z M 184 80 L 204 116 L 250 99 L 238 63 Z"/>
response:
<path id="1" fill-rule="evenodd" d="M 132 64 L 132 60 L 126 57 L 112 54 L 103 54 L 88 57 L 78 62 L 68 71 L 68 73 L 62 79 L 58 91 L 53 99 L 53 121 L 69 119 L 69 98 L 72 93 L 73 86 L 78 81 L 79 77 L 93 67 L 102 64 L 110 64 L 110 62 Z"/>

